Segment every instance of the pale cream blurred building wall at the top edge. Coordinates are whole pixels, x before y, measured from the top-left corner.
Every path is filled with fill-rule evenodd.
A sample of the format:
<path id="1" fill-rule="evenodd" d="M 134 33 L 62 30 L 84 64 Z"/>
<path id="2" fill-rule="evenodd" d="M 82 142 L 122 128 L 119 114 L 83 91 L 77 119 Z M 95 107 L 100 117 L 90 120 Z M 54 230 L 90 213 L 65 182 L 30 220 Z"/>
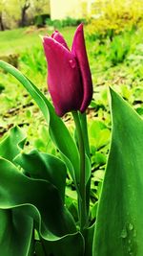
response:
<path id="1" fill-rule="evenodd" d="M 50 0 L 51 19 L 82 18 L 91 13 L 96 0 Z"/>

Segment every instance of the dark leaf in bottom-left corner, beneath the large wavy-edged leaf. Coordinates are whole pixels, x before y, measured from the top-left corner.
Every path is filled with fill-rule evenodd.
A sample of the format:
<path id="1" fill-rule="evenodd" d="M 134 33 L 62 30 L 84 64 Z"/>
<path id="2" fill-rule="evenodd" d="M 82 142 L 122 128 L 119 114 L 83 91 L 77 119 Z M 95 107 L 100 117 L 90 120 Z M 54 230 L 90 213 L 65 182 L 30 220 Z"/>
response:
<path id="1" fill-rule="evenodd" d="M 0 252 L 3 256 L 33 256 L 33 220 L 22 207 L 0 210 Z"/>

